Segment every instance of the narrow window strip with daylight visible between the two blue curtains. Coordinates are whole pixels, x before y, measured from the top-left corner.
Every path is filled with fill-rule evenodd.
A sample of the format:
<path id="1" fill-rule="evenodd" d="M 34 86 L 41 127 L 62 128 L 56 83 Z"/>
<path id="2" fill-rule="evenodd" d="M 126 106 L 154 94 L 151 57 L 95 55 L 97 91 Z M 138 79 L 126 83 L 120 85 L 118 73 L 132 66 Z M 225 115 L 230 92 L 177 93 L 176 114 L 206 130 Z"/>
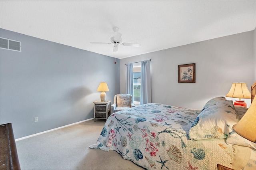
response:
<path id="1" fill-rule="evenodd" d="M 133 101 L 134 105 L 140 105 L 141 67 L 133 67 Z"/>

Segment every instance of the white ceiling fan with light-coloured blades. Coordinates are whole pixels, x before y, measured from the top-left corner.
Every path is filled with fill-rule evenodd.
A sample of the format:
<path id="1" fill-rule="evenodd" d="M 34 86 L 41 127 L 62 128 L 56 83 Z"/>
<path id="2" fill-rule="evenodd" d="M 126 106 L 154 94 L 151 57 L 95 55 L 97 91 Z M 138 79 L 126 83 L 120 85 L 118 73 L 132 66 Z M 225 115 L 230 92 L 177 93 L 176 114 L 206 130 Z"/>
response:
<path id="1" fill-rule="evenodd" d="M 119 33 L 119 28 L 118 27 L 113 27 L 114 30 L 114 37 L 110 38 L 109 43 L 104 43 L 104 42 L 91 42 L 93 44 L 114 44 L 113 52 L 116 52 L 118 50 L 118 45 L 125 45 L 125 46 L 132 46 L 132 47 L 140 47 L 139 43 L 122 43 L 122 34 Z"/>

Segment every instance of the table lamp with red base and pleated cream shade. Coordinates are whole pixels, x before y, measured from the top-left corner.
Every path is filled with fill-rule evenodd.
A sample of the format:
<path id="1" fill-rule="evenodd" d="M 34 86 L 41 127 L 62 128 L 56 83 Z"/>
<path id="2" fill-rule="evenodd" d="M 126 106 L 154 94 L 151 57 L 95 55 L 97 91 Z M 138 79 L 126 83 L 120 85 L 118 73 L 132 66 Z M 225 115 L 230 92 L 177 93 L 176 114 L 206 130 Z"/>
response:
<path id="1" fill-rule="evenodd" d="M 247 104 L 245 103 L 244 100 L 241 100 L 241 98 L 250 99 L 251 93 L 248 90 L 246 83 L 232 83 L 230 91 L 228 92 L 226 97 L 239 98 L 239 100 L 236 100 L 234 102 L 234 105 L 241 105 L 247 107 Z"/>

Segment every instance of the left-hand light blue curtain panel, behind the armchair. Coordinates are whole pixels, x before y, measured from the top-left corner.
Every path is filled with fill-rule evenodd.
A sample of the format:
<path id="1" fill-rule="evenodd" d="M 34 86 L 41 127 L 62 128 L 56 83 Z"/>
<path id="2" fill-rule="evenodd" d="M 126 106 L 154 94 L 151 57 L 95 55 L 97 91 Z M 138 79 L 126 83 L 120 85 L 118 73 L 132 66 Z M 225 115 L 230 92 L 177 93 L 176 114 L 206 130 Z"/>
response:
<path id="1" fill-rule="evenodd" d="M 133 100 L 133 63 L 127 63 L 127 76 L 126 76 L 126 94 L 132 95 Z M 132 101 L 133 103 L 133 101 Z"/>

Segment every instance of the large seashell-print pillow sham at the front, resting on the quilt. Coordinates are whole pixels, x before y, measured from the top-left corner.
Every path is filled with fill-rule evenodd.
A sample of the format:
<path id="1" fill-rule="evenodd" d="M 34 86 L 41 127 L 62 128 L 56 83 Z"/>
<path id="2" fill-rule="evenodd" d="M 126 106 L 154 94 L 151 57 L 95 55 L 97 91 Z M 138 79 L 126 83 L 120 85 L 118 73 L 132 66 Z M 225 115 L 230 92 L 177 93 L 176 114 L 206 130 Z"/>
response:
<path id="1" fill-rule="evenodd" d="M 217 102 L 205 108 L 192 124 L 188 135 L 191 140 L 223 139 L 230 135 L 238 123 L 233 101 Z"/>

